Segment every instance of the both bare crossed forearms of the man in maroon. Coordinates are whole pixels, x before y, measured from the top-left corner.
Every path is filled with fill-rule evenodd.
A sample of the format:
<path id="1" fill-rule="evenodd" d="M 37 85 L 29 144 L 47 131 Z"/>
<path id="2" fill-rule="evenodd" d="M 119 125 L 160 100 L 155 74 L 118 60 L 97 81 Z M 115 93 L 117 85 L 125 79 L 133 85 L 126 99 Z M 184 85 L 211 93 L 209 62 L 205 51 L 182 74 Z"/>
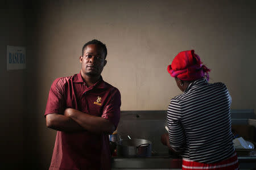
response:
<path id="1" fill-rule="evenodd" d="M 63 114 L 51 113 L 46 116 L 47 128 L 59 131 L 91 131 L 112 134 L 115 126 L 109 120 L 67 108 Z"/>

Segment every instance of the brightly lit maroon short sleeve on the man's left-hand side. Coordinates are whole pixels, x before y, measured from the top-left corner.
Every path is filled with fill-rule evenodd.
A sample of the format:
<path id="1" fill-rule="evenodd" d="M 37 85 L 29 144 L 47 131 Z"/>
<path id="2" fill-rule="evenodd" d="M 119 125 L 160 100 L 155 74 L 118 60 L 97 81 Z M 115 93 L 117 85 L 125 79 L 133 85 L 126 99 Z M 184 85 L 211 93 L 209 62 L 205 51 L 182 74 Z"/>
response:
<path id="1" fill-rule="evenodd" d="M 60 78 L 56 79 L 49 90 L 44 116 L 51 113 L 63 114 L 64 111 L 64 84 L 60 83 Z"/>

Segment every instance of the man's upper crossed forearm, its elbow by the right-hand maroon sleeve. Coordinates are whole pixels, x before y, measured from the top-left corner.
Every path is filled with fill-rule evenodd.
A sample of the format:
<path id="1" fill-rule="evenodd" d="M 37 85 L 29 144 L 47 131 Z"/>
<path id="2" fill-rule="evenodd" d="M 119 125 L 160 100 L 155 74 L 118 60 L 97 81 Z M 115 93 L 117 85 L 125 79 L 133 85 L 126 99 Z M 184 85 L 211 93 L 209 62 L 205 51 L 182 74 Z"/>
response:
<path id="1" fill-rule="evenodd" d="M 114 125 L 105 118 L 86 114 L 84 112 L 77 111 L 76 109 L 65 109 L 64 115 L 72 118 L 77 124 L 82 126 L 85 130 L 92 131 L 94 133 L 108 133 L 111 134 L 115 130 Z"/>

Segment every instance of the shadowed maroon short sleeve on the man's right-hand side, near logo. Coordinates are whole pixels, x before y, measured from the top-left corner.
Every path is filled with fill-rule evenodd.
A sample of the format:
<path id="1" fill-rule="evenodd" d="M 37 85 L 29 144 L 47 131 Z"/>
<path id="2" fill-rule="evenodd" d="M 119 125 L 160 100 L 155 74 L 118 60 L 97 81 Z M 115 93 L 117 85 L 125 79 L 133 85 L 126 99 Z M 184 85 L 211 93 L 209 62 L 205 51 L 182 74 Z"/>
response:
<path id="1" fill-rule="evenodd" d="M 111 99 L 109 100 L 109 103 L 106 104 L 101 117 L 112 122 L 115 128 L 117 128 L 120 120 L 121 94 L 119 90 L 115 88 L 110 97 Z"/>

